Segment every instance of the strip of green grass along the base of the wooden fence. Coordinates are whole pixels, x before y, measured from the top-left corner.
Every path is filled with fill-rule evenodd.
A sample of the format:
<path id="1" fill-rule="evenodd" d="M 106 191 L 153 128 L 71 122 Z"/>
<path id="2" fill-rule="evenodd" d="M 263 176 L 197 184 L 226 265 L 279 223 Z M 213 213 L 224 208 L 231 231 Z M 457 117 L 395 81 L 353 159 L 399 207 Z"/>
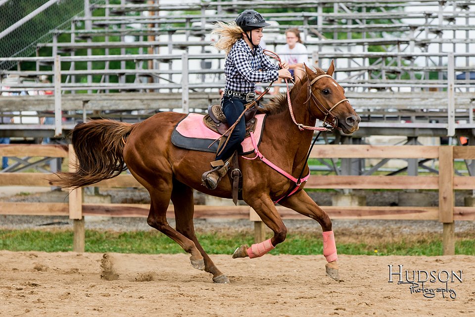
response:
<path id="1" fill-rule="evenodd" d="M 251 233 L 204 233 L 198 240 L 209 254 L 232 254 L 241 244 L 253 243 Z M 417 239 L 410 236 L 398 241 L 358 237 L 342 237 L 337 248 L 339 254 L 348 255 L 442 255 L 439 235 Z M 353 242 L 352 242 L 353 241 Z M 355 242 L 356 241 L 356 242 Z M 0 250 L 9 251 L 72 251 L 73 232 L 65 230 L 0 230 Z M 309 233 L 288 234 L 284 243 L 271 254 L 321 255 L 320 235 Z M 101 232 L 86 231 L 86 252 L 117 252 L 137 254 L 175 254 L 184 251 L 174 241 L 155 231 Z M 475 238 L 458 238 L 456 254 L 475 255 Z"/>

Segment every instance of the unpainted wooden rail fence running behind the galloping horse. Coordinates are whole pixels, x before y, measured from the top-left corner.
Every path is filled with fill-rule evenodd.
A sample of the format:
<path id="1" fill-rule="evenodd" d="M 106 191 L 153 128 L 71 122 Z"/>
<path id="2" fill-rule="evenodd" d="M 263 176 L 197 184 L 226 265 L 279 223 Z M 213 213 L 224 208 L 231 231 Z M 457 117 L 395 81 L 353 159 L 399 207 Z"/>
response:
<path id="1" fill-rule="evenodd" d="M 69 170 L 75 168 L 76 157 L 71 146 L 61 145 L 0 145 L 2 156 L 68 158 Z M 475 220 L 475 207 L 455 207 L 454 190 L 475 189 L 475 176 L 455 176 L 454 159 L 475 159 L 475 146 L 371 146 L 319 145 L 310 158 L 368 159 L 438 159 L 438 176 L 334 176 L 312 175 L 306 188 L 315 189 L 422 189 L 438 190 L 438 207 L 387 206 L 322 206 L 332 219 L 438 220 L 443 223 L 443 254 L 455 253 L 454 220 Z M 43 173 L 0 173 L 1 186 L 49 186 Z M 141 187 L 129 174 L 122 174 L 95 184 L 97 187 Z M 84 216 L 146 217 L 148 204 L 85 204 L 81 189 L 69 193 L 67 203 L 0 202 L 0 214 L 69 215 L 74 220 L 74 251 L 84 251 Z M 283 219 L 309 219 L 294 211 L 277 206 Z M 173 218 L 173 206 L 167 216 Z M 255 223 L 255 238 L 261 239 L 264 226 L 248 206 L 195 206 L 195 218 L 249 219 Z"/>

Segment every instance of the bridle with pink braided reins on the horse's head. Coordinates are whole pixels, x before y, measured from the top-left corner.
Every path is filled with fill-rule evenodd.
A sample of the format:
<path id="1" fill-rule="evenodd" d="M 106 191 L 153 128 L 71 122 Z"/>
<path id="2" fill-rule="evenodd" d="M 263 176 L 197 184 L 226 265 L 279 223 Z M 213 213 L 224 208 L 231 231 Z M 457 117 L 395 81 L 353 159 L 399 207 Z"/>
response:
<path id="1" fill-rule="evenodd" d="M 279 61 L 279 63 L 281 63 L 281 58 L 276 53 L 274 53 L 272 51 L 269 51 L 269 50 L 263 50 L 263 53 L 270 56 L 270 57 L 273 57 L 273 58 L 277 59 Z M 312 126 L 304 125 L 302 123 L 297 123 L 297 121 L 295 120 L 295 116 L 293 115 L 292 103 L 290 101 L 290 90 L 288 88 L 288 81 L 287 81 L 286 78 L 284 79 L 285 80 L 285 85 L 287 86 L 287 104 L 288 104 L 288 109 L 290 111 L 290 116 L 292 117 L 293 123 L 295 123 L 297 125 L 297 127 L 300 131 L 303 131 L 303 130 L 332 131 L 334 128 L 338 129 L 338 119 L 332 113 L 332 110 L 334 108 L 336 108 L 336 106 L 338 106 L 342 102 L 348 101 L 348 99 L 340 100 L 339 102 L 334 104 L 330 109 L 327 109 L 325 106 L 323 106 L 322 103 L 318 100 L 317 97 L 315 97 L 315 95 L 312 92 L 312 85 L 315 84 L 319 79 L 321 79 L 323 77 L 330 77 L 330 78 L 333 79 L 332 76 L 330 76 L 328 74 L 323 74 L 323 75 L 319 75 L 319 76 L 315 77 L 312 80 L 309 79 L 307 81 L 307 83 L 308 83 L 308 85 L 307 85 L 307 96 L 308 97 L 307 97 L 307 100 L 305 101 L 304 104 L 308 103 L 308 106 L 310 108 L 310 99 L 311 99 L 315 103 L 317 108 L 320 110 L 320 112 L 325 114 L 325 118 L 323 120 L 324 127 L 315 127 L 315 126 L 312 127 Z M 330 118 L 329 118 L 329 116 L 330 116 Z M 330 120 L 327 120 L 328 118 Z M 330 128 L 328 128 L 327 125 L 330 125 Z"/>

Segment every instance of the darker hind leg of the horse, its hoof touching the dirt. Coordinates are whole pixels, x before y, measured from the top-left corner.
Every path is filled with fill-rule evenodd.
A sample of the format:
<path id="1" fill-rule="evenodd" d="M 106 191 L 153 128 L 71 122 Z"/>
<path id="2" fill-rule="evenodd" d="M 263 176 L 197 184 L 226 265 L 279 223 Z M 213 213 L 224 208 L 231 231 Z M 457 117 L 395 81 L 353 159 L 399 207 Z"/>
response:
<path id="1" fill-rule="evenodd" d="M 228 277 L 214 265 L 196 238 L 193 225 L 193 190 L 189 186 L 174 180 L 171 199 L 175 209 L 177 231 L 194 242 L 203 256 L 204 270 L 213 274 L 213 281 L 215 283 L 229 283 Z"/>

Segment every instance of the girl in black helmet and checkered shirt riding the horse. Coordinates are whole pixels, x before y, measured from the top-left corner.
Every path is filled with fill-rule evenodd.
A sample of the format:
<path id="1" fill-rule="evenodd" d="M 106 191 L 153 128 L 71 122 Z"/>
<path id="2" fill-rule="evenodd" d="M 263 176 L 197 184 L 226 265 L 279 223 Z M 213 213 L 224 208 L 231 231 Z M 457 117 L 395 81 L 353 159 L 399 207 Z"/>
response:
<path id="1" fill-rule="evenodd" d="M 270 24 L 254 10 L 245 10 L 238 15 L 236 22 L 218 22 L 213 33 L 220 36 L 214 46 L 227 53 L 224 64 L 226 86 L 221 106 L 231 126 L 244 110 L 244 104 L 254 101 L 257 82 L 276 81 L 278 78 L 291 78 L 286 62 L 274 65 L 259 46 L 263 37 L 262 29 Z M 204 172 L 201 179 L 209 189 L 215 189 L 219 180 L 226 175 L 229 163 L 225 163 L 239 149 L 244 140 L 246 127 L 244 120 L 238 124 L 228 137 L 224 148 L 218 150 L 211 170 Z"/>

